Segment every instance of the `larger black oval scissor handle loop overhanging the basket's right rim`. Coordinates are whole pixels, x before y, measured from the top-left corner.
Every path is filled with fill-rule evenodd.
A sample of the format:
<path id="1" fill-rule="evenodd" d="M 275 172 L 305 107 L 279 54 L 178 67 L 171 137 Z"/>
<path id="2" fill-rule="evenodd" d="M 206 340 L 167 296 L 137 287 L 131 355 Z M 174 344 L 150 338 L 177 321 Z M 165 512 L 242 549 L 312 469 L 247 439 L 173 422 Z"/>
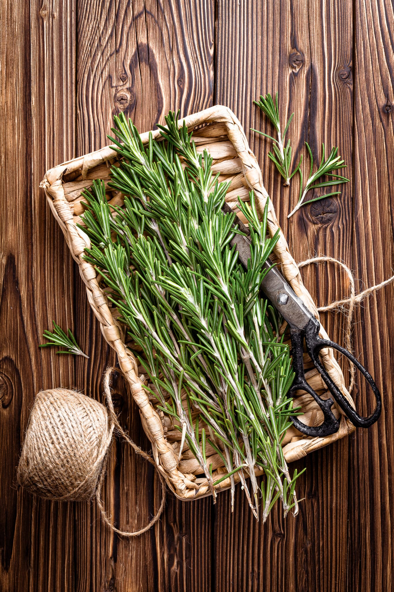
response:
<path id="1" fill-rule="evenodd" d="M 377 419 L 379 419 L 380 413 L 382 411 L 382 398 L 380 397 L 380 392 L 375 384 L 374 379 L 364 368 L 362 363 L 354 358 L 354 356 L 351 355 L 347 349 L 342 348 L 337 343 L 334 343 L 328 339 L 320 339 L 319 329 L 319 324 L 317 321 L 314 322 L 314 319 L 312 319 L 305 327 L 305 345 L 307 346 L 307 352 L 310 355 L 315 368 L 317 368 L 317 370 L 320 372 L 321 378 L 323 378 L 328 390 L 331 392 L 331 395 L 333 395 L 334 399 L 337 401 L 338 406 L 340 406 L 344 413 L 346 413 L 347 417 L 349 417 L 351 423 L 353 423 L 356 427 L 372 426 L 372 424 L 375 423 Z M 370 416 L 360 416 L 359 413 L 357 413 L 357 411 L 351 406 L 349 401 L 347 401 L 347 399 L 343 396 L 337 385 L 331 380 L 319 358 L 319 352 L 323 348 L 333 348 L 342 353 L 347 359 L 350 360 L 350 362 L 353 362 L 354 366 L 356 366 L 356 368 L 362 373 L 363 377 L 369 383 L 376 399 L 375 410 L 372 414 L 370 414 Z"/>

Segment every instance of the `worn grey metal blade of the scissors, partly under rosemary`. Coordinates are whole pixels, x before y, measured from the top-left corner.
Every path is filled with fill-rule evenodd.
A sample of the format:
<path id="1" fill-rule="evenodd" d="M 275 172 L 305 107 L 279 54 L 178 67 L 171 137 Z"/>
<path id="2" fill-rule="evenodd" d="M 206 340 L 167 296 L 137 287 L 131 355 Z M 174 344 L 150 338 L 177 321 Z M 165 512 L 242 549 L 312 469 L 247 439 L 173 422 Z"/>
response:
<path id="1" fill-rule="evenodd" d="M 227 204 L 224 204 L 222 209 L 226 214 L 234 213 L 232 208 Z M 250 234 L 248 227 L 240 221 L 237 215 L 234 223 L 241 232 L 247 235 Z M 236 245 L 236 249 L 239 253 L 239 260 L 247 268 L 248 259 L 250 259 L 251 244 L 249 236 L 235 234 L 230 241 L 230 244 L 231 246 Z M 298 298 L 297 294 L 295 294 L 294 290 L 289 286 L 288 282 L 286 282 L 284 276 L 272 266 L 273 263 L 271 259 L 267 259 L 265 262 L 265 268 L 269 271 L 261 282 L 263 292 L 291 327 L 301 330 L 305 329 L 311 318 L 314 319 L 315 317 L 302 302 L 301 298 Z"/>

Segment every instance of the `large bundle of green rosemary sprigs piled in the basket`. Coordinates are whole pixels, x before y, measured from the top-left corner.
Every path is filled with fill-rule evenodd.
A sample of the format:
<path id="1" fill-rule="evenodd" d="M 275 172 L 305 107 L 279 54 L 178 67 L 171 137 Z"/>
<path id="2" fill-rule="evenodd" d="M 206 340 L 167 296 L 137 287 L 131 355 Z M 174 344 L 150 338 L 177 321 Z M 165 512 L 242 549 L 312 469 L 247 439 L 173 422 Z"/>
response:
<path id="1" fill-rule="evenodd" d="M 171 416 L 184 447 L 193 452 L 209 484 L 232 484 L 239 473 L 250 507 L 263 520 L 278 498 L 284 513 L 297 513 L 295 481 L 281 440 L 294 415 L 286 395 L 293 373 L 281 318 L 262 297 L 264 263 L 277 236 L 269 238 L 267 207 L 259 220 L 253 192 L 239 200 L 249 223 L 248 269 L 230 240 L 239 232 L 234 214 L 223 213 L 229 182 L 211 173 L 212 158 L 198 155 L 178 116 L 165 118 L 161 139 L 148 146 L 125 115 L 115 117 L 119 155 L 110 186 L 124 206 L 110 207 L 105 184 L 85 191 L 83 215 L 92 263 L 136 344 L 135 356 L 149 377 L 146 390 Z M 227 469 L 207 463 L 216 452 Z M 256 468 L 263 471 L 259 487 Z M 246 478 L 250 477 L 250 487 Z"/>

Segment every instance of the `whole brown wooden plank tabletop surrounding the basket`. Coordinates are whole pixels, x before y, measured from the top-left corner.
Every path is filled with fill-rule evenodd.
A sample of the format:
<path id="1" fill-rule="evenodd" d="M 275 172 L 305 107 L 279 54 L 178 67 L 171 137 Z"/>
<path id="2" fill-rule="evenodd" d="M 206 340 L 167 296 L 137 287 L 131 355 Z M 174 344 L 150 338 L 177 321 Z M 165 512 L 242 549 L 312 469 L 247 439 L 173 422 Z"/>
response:
<path id="1" fill-rule="evenodd" d="M 50 503 L 17 487 L 15 467 L 34 394 L 77 387 L 100 399 L 115 362 L 90 308 L 63 235 L 38 188 L 45 170 L 104 146 L 121 110 L 140 131 L 170 109 L 181 115 L 222 103 L 235 111 L 258 156 L 266 188 L 296 260 L 331 255 L 357 287 L 392 275 L 394 207 L 394 14 L 385 0 L 3 0 L 0 167 L 0 590 L 14 591 L 382 591 L 392 589 L 394 289 L 357 310 L 354 346 L 383 393 L 372 429 L 297 462 L 304 500 L 297 517 L 279 506 L 257 523 L 237 489 L 216 506 L 168 496 L 162 519 L 134 540 L 103 526 L 95 504 Z M 279 90 L 294 157 L 307 140 L 338 145 L 351 183 L 339 198 L 290 221 L 297 183 L 284 189 L 268 126 L 252 105 Z M 303 269 L 319 304 L 344 297 L 331 265 Z M 39 350 L 54 318 L 73 327 L 90 359 Z M 324 319 L 343 339 L 340 314 Z M 367 410 L 364 385 L 355 391 Z M 148 449 L 119 381 L 116 405 Z M 106 504 L 123 527 L 157 509 L 150 466 L 113 447 Z"/>

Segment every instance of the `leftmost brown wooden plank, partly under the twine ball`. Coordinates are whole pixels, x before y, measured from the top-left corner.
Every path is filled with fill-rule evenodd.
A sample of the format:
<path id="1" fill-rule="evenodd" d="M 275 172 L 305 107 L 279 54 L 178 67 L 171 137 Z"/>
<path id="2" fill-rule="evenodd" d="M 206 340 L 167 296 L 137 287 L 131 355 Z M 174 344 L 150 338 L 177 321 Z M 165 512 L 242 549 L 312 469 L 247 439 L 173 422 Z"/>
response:
<path id="1" fill-rule="evenodd" d="M 72 507 L 32 498 L 15 467 L 34 394 L 73 384 L 73 358 L 39 350 L 73 327 L 73 265 L 38 184 L 74 156 L 73 2 L 1 5 L 1 590 L 73 590 Z"/>

